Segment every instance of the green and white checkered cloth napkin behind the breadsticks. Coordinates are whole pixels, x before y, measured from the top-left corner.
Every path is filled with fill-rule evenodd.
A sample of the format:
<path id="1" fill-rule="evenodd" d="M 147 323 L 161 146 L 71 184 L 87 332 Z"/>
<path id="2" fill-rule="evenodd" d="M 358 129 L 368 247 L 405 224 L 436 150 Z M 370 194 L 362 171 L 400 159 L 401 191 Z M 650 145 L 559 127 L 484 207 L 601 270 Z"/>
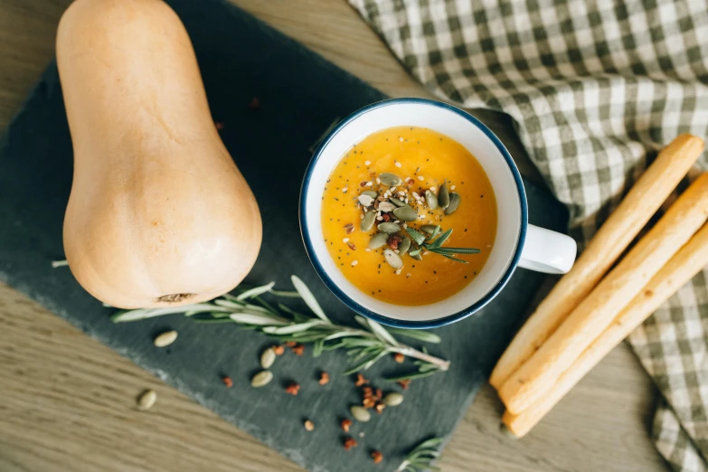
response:
<path id="1" fill-rule="evenodd" d="M 705 0 L 349 3 L 440 98 L 514 118 L 581 243 L 657 150 L 708 136 Z M 707 285 L 703 270 L 628 339 L 664 395 L 653 434 L 675 470 L 708 469 Z"/>

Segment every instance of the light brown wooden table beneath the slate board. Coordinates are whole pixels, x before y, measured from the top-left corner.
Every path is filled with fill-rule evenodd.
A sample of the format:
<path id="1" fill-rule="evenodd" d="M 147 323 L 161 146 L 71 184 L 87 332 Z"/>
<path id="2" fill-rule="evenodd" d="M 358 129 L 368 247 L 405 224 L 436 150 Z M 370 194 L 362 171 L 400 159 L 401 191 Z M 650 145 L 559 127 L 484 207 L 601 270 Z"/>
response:
<path id="1" fill-rule="evenodd" d="M 51 59 L 56 25 L 70 3 L 0 0 L 0 128 Z M 236 3 L 392 96 L 427 95 L 345 0 Z M 504 117 L 477 116 L 510 132 Z M 134 399 L 145 388 L 159 399 L 152 411 L 138 412 Z M 440 466 L 450 472 L 665 470 L 648 433 L 655 398 L 647 374 L 621 345 L 527 438 L 512 440 L 499 431 L 502 406 L 486 387 Z M 0 284 L 0 470 L 301 469 Z"/>

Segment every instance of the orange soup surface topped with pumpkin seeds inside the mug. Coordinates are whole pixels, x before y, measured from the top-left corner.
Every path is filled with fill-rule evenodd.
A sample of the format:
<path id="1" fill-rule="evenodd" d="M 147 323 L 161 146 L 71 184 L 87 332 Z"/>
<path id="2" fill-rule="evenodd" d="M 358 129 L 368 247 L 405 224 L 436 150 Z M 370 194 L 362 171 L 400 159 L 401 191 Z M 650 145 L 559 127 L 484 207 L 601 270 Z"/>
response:
<path id="1" fill-rule="evenodd" d="M 399 184 L 386 184 L 396 179 Z M 451 203 L 447 212 L 458 202 L 450 214 L 440 205 L 448 201 L 440 196 L 443 185 Z M 484 169 L 465 147 L 427 128 L 391 127 L 352 146 L 327 180 L 322 200 L 323 236 L 336 266 L 365 294 L 396 305 L 428 305 L 465 288 L 484 267 L 495 241 L 496 199 Z M 392 210 L 404 203 L 417 215 Z M 367 212 L 374 214 L 364 218 Z M 384 222 L 398 224 L 401 231 L 382 227 Z M 428 232 L 420 229 L 424 225 Z M 433 226 L 440 227 L 435 238 L 430 237 Z M 448 259 L 420 248 L 406 228 L 430 237 L 428 245 L 452 230 L 442 250 L 479 253 L 448 250 L 448 256 L 467 263 Z"/>

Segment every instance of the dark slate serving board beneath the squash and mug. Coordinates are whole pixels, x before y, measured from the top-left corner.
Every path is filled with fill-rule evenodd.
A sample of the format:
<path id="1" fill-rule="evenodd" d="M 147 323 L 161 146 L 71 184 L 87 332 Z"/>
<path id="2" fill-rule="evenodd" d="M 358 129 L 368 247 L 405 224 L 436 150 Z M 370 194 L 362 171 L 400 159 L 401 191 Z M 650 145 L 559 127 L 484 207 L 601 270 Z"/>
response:
<path id="1" fill-rule="evenodd" d="M 276 280 L 279 288 L 289 289 L 289 275 L 297 274 L 327 313 L 351 323 L 352 313 L 327 291 L 307 260 L 297 223 L 298 193 L 308 147 L 322 131 L 333 119 L 384 96 L 232 5 L 218 0 L 170 4 L 194 42 L 214 120 L 224 123 L 223 141 L 260 203 L 265 237 L 247 280 Z M 248 107 L 254 97 L 260 99 L 260 109 Z M 371 470 L 372 448 L 385 457 L 384 467 L 376 469 L 392 470 L 421 439 L 447 437 L 542 280 L 519 269 L 503 294 L 477 316 L 437 330 L 444 342 L 432 352 L 452 360 L 451 370 L 413 382 L 401 407 L 356 426 L 360 447 L 345 452 L 338 423 L 360 399 L 352 380 L 336 374 L 345 369 L 344 353 L 318 359 L 309 351 L 301 358 L 286 355 L 273 368 L 275 381 L 255 391 L 249 379 L 258 369 L 260 351 L 270 345 L 267 338 L 230 325 L 197 325 L 181 316 L 115 326 L 110 310 L 80 288 L 68 269 L 51 268 L 51 260 L 63 259 L 61 223 L 72 168 L 71 138 L 53 63 L 1 143 L 0 281 L 311 470 Z M 526 185 L 531 222 L 563 230 L 567 213 L 560 203 L 542 188 Z M 153 336 L 166 328 L 177 329 L 179 339 L 167 349 L 156 349 Z M 331 373 L 332 382 L 325 387 L 316 382 L 320 369 Z M 401 366 L 385 360 L 367 377 L 397 369 Z M 233 388 L 224 388 L 223 374 L 233 378 Z M 302 386 L 297 397 L 282 390 L 291 380 Z M 376 383 L 387 390 L 398 388 Z M 303 430 L 306 418 L 316 422 L 313 432 Z M 361 430 L 364 439 L 357 435 Z"/>

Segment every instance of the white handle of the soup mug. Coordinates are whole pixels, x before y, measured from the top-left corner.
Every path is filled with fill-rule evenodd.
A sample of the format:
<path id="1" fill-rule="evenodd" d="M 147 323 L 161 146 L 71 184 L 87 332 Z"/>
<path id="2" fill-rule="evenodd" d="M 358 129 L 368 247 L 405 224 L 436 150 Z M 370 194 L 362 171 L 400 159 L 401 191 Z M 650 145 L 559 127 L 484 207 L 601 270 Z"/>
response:
<path id="1" fill-rule="evenodd" d="M 549 274 L 565 274 L 575 262 L 577 252 L 578 245 L 570 236 L 529 224 L 519 267 Z"/>

